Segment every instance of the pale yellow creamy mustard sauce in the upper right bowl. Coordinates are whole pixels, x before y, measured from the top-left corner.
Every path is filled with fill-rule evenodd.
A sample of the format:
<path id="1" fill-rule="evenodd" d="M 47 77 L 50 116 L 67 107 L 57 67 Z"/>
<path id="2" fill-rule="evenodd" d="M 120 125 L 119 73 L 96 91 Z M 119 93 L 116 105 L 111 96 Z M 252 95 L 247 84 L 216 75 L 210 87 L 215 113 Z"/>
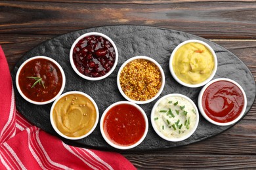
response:
<path id="1" fill-rule="evenodd" d="M 190 42 L 175 52 L 172 66 L 182 82 L 199 84 L 211 76 L 215 62 L 208 48 L 198 42 Z"/>

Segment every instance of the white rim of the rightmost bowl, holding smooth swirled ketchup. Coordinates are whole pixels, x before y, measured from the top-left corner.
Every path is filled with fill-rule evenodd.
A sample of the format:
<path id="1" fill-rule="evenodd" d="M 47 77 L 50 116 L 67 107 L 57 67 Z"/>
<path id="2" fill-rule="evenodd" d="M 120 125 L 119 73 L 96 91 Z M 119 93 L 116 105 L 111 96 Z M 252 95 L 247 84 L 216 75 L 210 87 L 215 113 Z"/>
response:
<path id="1" fill-rule="evenodd" d="M 216 122 L 215 120 L 212 120 L 211 118 L 209 118 L 209 116 L 207 116 L 207 114 L 205 113 L 205 111 L 203 110 L 203 105 L 202 105 L 202 98 L 203 98 L 203 93 L 205 92 L 205 90 L 211 86 L 211 84 L 218 82 L 218 81 L 227 81 L 227 82 L 231 82 L 232 84 L 236 85 L 243 93 L 244 96 L 244 107 L 242 109 L 242 112 L 240 112 L 240 115 L 232 120 L 231 122 L 225 122 L 225 123 L 221 123 L 221 122 Z M 238 84 L 237 82 L 235 82 L 234 80 L 231 80 L 229 78 L 216 78 L 214 80 L 211 80 L 210 82 L 208 82 L 205 86 L 203 86 L 202 90 L 200 91 L 199 95 L 198 95 L 198 109 L 200 110 L 202 116 L 208 121 L 211 122 L 212 124 L 215 124 L 217 126 L 229 126 L 232 124 L 235 124 L 236 122 L 238 122 L 238 120 L 240 120 L 244 114 L 245 114 L 245 110 L 247 107 L 247 98 L 245 95 L 245 92 L 243 90 L 243 88 L 240 86 L 240 84 Z"/>

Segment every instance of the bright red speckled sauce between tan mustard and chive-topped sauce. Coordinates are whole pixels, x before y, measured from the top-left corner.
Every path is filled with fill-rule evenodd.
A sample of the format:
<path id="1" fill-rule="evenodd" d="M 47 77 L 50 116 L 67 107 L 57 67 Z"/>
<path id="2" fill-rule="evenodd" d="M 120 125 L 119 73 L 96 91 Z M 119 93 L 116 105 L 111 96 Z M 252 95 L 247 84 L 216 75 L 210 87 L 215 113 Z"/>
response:
<path id="1" fill-rule="evenodd" d="M 146 122 L 139 109 L 120 104 L 107 112 L 103 127 L 110 141 L 121 146 L 130 146 L 143 136 Z"/>

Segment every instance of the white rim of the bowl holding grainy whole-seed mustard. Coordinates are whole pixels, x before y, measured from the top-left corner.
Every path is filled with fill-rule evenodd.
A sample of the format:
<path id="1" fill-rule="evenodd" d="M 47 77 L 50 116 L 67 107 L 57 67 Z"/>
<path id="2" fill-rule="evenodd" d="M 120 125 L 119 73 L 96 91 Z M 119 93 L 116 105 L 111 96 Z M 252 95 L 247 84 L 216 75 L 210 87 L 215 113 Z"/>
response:
<path id="1" fill-rule="evenodd" d="M 121 89 L 121 85 L 120 85 L 120 74 L 121 74 L 121 71 L 123 70 L 123 67 L 125 67 L 125 65 L 127 65 L 127 63 L 135 60 L 135 59 L 146 59 L 148 61 L 151 61 L 152 63 L 154 63 L 158 69 L 160 70 L 160 73 L 161 73 L 161 87 L 160 87 L 160 90 L 158 91 L 158 93 L 156 93 L 156 95 L 154 97 L 152 97 L 151 99 L 148 99 L 146 101 L 136 101 L 136 100 L 133 100 L 131 98 L 129 98 L 127 95 L 125 95 L 125 93 L 123 92 L 123 90 Z M 125 97 L 125 99 L 127 99 L 128 101 L 131 101 L 133 103 L 137 103 L 137 104 L 146 104 L 146 103 L 150 103 L 152 101 L 154 101 L 156 98 L 158 98 L 158 96 L 161 94 L 161 92 L 163 91 L 163 87 L 165 86 L 165 74 L 163 72 L 163 69 L 161 68 L 161 65 L 154 59 L 152 58 L 149 58 L 149 57 L 146 57 L 146 56 L 135 56 L 133 58 L 130 58 L 130 59 L 127 59 L 127 61 L 125 61 L 123 63 L 123 65 L 121 65 L 118 73 L 117 73 L 117 88 L 119 90 L 119 92 L 121 93 L 121 95 L 123 95 L 123 97 Z"/>

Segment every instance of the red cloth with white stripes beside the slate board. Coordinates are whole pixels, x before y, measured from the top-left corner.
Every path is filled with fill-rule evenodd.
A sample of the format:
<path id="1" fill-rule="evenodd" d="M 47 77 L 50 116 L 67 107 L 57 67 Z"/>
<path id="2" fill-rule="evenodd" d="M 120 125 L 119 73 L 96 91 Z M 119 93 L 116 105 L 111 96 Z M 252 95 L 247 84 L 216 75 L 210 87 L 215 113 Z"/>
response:
<path id="1" fill-rule="evenodd" d="M 69 146 L 25 120 L 1 46 L 0 80 L 0 169 L 135 169 L 121 154 Z"/>

